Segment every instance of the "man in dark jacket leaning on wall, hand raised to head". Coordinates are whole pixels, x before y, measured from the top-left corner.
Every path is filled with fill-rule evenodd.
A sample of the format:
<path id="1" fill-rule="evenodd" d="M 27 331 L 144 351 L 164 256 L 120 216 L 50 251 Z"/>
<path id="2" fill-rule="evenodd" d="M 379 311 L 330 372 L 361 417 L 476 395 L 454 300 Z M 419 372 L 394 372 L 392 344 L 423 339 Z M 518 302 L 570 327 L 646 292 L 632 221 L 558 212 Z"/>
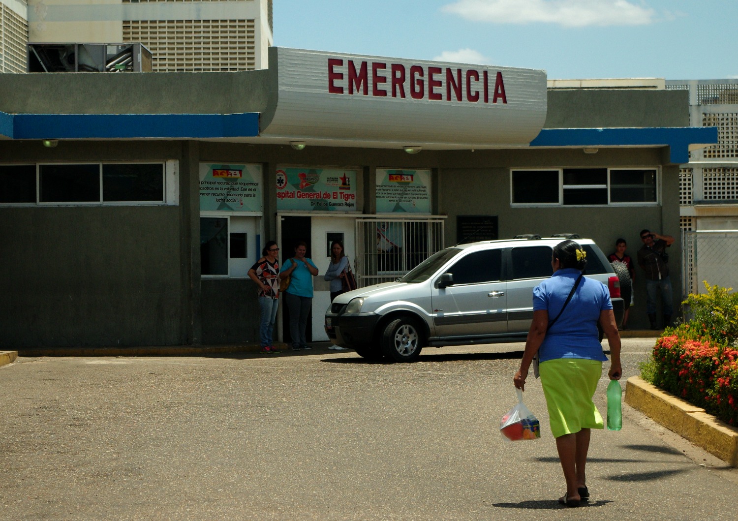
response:
<path id="1" fill-rule="evenodd" d="M 651 322 L 651 329 L 656 329 L 656 298 L 661 290 L 663 306 L 663 327 L 672 322 L 672 283 L 669 280 L 669 254 L 666 248 L 672 245 L 671 235 L 659 235 L 650 230 L 641 230 L 641 241 L 644 245 L 638 250 L 638 266 L 644 270 L 646 277 L 646 313 Z"/>

